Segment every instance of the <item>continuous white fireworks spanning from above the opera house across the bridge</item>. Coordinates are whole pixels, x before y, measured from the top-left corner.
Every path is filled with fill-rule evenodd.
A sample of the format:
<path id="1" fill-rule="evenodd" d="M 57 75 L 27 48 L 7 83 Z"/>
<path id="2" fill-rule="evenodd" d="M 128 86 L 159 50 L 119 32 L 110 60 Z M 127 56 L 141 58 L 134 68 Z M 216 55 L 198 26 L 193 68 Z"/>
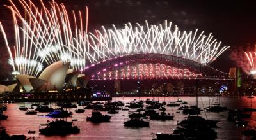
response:
<path id="1" fill-rule="evenodd" d="M 130 23 L 122 29 L 102 27 L 88 31 L 88 8 L 85 21 L 81 11 L 72 11 L 72 23 L 63 4 L 54 1 L 49 8 L 41 0 L 38 8 L 31 1 L 19 0 L 20 8 L 10 0 L 7 6 L 13 15 L 15 46 L 8 44 L 3 26 L 0 29 L 10 55 L 9 64 L 20 74 L 37 76 L 45 65 L 63 60 L 71 62 L 74 71 L 81 71 L 93 64 L 140 53 L 174 55 L 209 64 L 221 55 L 228 46 L 221 46 L 211 34 L 180 31 L 172 22 L 160 25 Z M 24 11 L 24 12 L 21 12 Z M 21 14 L 22 13 L 22 14 Z M 79 18 L 77 18 L 79 17 Z"/>

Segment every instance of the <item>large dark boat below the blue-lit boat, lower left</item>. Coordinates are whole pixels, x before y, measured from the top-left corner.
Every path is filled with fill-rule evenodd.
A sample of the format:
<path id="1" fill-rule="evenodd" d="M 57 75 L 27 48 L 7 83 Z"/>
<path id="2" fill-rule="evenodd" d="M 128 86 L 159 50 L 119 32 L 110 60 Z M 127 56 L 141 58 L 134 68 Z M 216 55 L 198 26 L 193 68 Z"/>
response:
<path id="1" fill-rule="evenodd" d="M 39 129 L 40 134 L 46 136 L 66 136 L 67 134 L 78 134 L 80 129 L 77 126 L 73 126 L 72 122 L 65 120 L 54 120 L 47 123 L 47 127 Z"/>

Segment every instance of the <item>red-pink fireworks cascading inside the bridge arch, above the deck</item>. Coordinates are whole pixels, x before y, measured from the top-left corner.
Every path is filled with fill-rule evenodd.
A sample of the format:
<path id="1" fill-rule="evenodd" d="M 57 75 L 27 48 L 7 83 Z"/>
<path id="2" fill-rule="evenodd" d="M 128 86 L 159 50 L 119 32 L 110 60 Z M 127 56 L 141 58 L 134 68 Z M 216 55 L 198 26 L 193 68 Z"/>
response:
<path id="1" fill-rule="evenodd" d="M 92 77 L 92 79 L 151 79 L 151 78 L 202 78 L 202 74 L 193 73 L 189 69 L 178 69 L 166 64 L 132 64 L 121 67 L 120 69 L 114 69 L 106 71 L 104 69 Z"/>

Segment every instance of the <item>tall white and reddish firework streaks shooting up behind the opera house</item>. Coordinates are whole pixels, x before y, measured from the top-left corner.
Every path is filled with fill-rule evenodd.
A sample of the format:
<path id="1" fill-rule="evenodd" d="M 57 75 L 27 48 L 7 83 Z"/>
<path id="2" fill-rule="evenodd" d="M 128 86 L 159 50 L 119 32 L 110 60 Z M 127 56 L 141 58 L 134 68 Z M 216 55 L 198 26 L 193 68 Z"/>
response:
<path id="1" fill-rule="evenodd" d="M 1 32 L 10 55 L 9 64 L 13 71 L 20 74 L 37 76 L 43 69 L 43 65 L 50 65 L 61 60 L 65 54 L 73 56 L 76 46 L 73 44 L 72 32 L 79 32 L 84 36 L 87 32 L 88 22 L 86 21 L 86 31 L 83 31 L 83 19 L 79 11 L 79 27 L 71 28 L 67 10 L 63 4 L 54 1 L 49 3 L 50 8 L 46 8 L 41 2 L 38 8 L 31 1 L 19 0 L 19 8 L 10 0 L 11 6 L 6 6 L 12 11 L 13 25 L 15 31 L 15 46 L 8 44 L 8 39 L 0 23 Z M 22 14 L 21 14 L 22 13 Z M 74 20 L 76 14 L 72 11 Z M 86 20 L 88 19 L 88 8 L 86 7 Z M 75 23 L 76 24 L 76 23 Z M 74 30 L 72 30 L 74 29 Z M 69 48 L 72 46 L 71 48 Z M 72 57 L 71 57 L 72 58 Z M 81 58 L 81 57 L 78 57 Z M 68 62 L 70 60 L 65 60 Z M 85 62 L 84 62 L 85 63 Z M 79 69 L 75 65 L 76 69 Z"/>

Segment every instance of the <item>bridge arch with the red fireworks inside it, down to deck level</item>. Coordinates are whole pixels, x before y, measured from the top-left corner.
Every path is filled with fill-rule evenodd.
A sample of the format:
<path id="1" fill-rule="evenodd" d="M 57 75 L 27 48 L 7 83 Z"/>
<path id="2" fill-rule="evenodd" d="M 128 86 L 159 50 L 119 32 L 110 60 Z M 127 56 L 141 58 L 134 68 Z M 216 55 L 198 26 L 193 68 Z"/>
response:
<path id="1" fill-rule="evenodd" d="M 194 60 L 154 53 L 115 57 L 88 67 L 85 73 L 92 80 L 154 78 L 230 80 L 227 73 Z"/>

